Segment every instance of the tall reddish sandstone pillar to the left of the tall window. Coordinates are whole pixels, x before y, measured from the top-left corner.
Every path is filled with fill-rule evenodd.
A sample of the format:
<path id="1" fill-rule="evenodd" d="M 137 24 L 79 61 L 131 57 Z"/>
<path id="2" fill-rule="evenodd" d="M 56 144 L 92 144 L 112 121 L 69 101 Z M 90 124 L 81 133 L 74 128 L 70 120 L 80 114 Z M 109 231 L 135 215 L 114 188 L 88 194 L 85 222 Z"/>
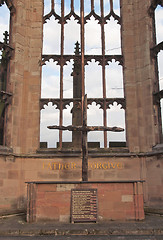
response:
<path id="1" fill-rule="evenodd" d="M 43 1 L 14 0 L 16 13 L 11 19 L 8 91 L 12 104 L 7 113 L 5 144 L 15 153 L 34 153 L 39 147 L 40 91 L 43 40 Z"/>

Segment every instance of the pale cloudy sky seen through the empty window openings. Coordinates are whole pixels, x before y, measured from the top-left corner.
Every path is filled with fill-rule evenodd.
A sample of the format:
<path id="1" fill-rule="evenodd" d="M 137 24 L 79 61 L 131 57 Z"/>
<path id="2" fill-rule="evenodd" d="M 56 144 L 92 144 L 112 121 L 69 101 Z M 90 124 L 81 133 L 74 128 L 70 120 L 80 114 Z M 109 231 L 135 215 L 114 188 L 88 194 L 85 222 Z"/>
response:
<path id="1" fill-rule="evenodd" d="M 70 0 L 65 1 L 65 15 L 70 12 Z M 79 0 L 74 0 L 75 12 L 80 13 Z M 99 0 L 95 0 L 95 12 L 100 15 Z M 109 13 L 108 0 L 104 0 L 105 15 Z M 44 0 L 44 14 L 50 11 L 50 0 Z M 60 15 L 61 1 L 57 0 L 55 9 L 57 14 Z M 119 0 L 114 0 L 114 10 L 116 14 L 120 14 Z M 85 15 L 90 12 L 90 1 L 85 1 Z M 162 28 L 163 28 L 163 9 L 158 7 L 156 10 L 156 33 L 157 43 L 162 41 Z M 9 26 L 9 11 L 5 5 L 0 7 L 0 41 L 3 39 L 3 32 L 8 30 Z M 54 31 L 55 29 L 55 31 Z M 73 29 L 73 31 L 72 31 Z M 80 25 L 77 21 L 71 18 L 65 24 L 65 44 L 64 54 L 74 53 L 74 44 L 76 41 L 80 43 Z M 112 18 L 105 24 L 105 42 L 106 54 L 121 54 L 121 41 L 120 41 L 120 26 Z M 60 24 L 54 20 L 54 17 L 44 24 L 44 44 L 43 54 L 60 54 Z M 93 17 L 85 25 L 85 54 L 101 54 L 101 29 L 98 21 Z M 160 89 L 163 89 L 163 53 L 158 54 L 159 64 L 159 79 Z M 73 61 L 68 62 L 64 66 L 64 98 L 71 98 L 73 78 L 71 76 Z M 58 98 L 59 97 L 59 73 L 60 67 L 56 63 L 50 61 L 42 68 L 42 98 Z M 92 61 L 85 67 L 85 85 L 86 93 L 89 98 L 102 97 L 102 69 L 97 62 Z M 112 62 L 106 66 L 106 90 L 107 97 L 123 97 L 123 74 L 122 67 L 117 62 Z M 113 104 L 107 110 L 107 124 L 108 126 L 119 126 L 125 128 L 125 114 L 124 110 L 120 109 L 120 105 Z M 41 111 L 41 124 L 40 124 L 40 141 L 48 142 L 48 147 L 56 147 L 56 142 L 59 141 L 59 134 L 57 130 L 49 130 L 47 126 L 59 124 L 59 110 L 56 106 L 49 103 L 44 106 L 45 109 Z M 72 104 L 67 106 L 64 110 L 63 125 L 70 125 Z M 99 105 L 95 103 L 88 106 L 88 125 L 103 125 L 103 111 L 99 109 Z M 63 132 L 63 141 L 71 141 L 71 132 Z M 103 133 L 91 132 L 88 135 L 89 141 L 100 141 L 103 147 Z M 125 141 L 125 132 L 123 133 L 108 133 L 108 141 Z"/>

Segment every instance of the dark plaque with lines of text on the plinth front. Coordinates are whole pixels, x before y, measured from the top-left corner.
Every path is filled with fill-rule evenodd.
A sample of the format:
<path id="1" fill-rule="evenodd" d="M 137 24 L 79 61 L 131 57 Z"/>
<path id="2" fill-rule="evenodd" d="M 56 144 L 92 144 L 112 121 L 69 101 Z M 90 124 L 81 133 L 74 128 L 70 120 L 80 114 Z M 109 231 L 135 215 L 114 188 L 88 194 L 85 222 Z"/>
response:
<path id="1" fill-rule="evenodd" d="M 71 222 L 97 221 L 97 189 L 71 190 Z"/>

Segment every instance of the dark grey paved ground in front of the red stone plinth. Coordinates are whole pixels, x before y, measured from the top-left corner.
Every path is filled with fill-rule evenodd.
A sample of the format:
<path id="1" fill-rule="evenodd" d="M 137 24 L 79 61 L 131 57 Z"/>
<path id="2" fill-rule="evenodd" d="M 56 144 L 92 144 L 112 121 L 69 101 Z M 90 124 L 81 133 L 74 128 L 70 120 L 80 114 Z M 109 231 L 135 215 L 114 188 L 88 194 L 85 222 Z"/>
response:
<path id="1" fill-rule="evenodd" d="M 89 240 L 94 239 L 118 239 L 114 238 L 116 235 L 120 235 L 119 239 L 161 239 L 163 240 L 163 216 L 150 215 L 146 216 L 144 221 L 128 221 L 128 222 L 105 222 L 97 224 L 57 224 L 55 222 L 39 222 L 39 223 L 27 223 L 25 221 L 25 216 L 14 216 L 8 218 L 0 218 L 0 236 L 23 236 L 30 235 L 53 235 L 52 238 L 33 238 L 33 239 L 57 239 L 57 240 L 67 240 L 75 239 L 72 235 L 83 235 L 83 238 L 87 239 L 89 235 Z M 97 238 L 97 235 L 99 238 Z M 105 236 L 104 236 L 105 235 Z M 126 235 L 125 238 L 122 238 Z M 129 235 L 148 235 L 148 238 L 137 237 L 129 238 Z M 156 238 L 155 236 L 158 236 Z M 57 237 L 55 237 L 57 236 Z M 58 237 L 62 236 L 62 237 Z M 71 238 L 68 238 L 72 236 Z M 103 238 L 102 238 L 103 236 Z M 150 236 L 150 238 L 149 238 Z M 85 238 L 84 238 L 85 237 Z M 0 238 L 2 240 L 5 238 Z M 10 239 L 10 238 L 8 238 Z M 6 238 L 6 240 L 8 240 Z M 12 240 L 14 238 L 11 238 Z M 17 238 L 18 239 L 18 238 Z M 24 238 L 28 239 L 28 238 Z M 32 239 L 32 238 L 29 238 Z M 79 239 L 78 239 L 79 240 Z"/>

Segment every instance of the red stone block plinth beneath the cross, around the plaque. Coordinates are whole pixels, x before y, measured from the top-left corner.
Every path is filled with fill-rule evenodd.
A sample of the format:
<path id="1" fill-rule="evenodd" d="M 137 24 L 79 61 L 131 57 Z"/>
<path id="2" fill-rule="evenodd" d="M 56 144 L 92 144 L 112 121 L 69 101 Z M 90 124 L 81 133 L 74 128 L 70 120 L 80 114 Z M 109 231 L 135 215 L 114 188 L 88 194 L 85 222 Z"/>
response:
<path id="1" fill-rule="evenodd" d="M 97 189 L 97 221 L 144 219 L 142 181 L 28 182 L 27 222 L 70 222 L 71 190 Z"/>

